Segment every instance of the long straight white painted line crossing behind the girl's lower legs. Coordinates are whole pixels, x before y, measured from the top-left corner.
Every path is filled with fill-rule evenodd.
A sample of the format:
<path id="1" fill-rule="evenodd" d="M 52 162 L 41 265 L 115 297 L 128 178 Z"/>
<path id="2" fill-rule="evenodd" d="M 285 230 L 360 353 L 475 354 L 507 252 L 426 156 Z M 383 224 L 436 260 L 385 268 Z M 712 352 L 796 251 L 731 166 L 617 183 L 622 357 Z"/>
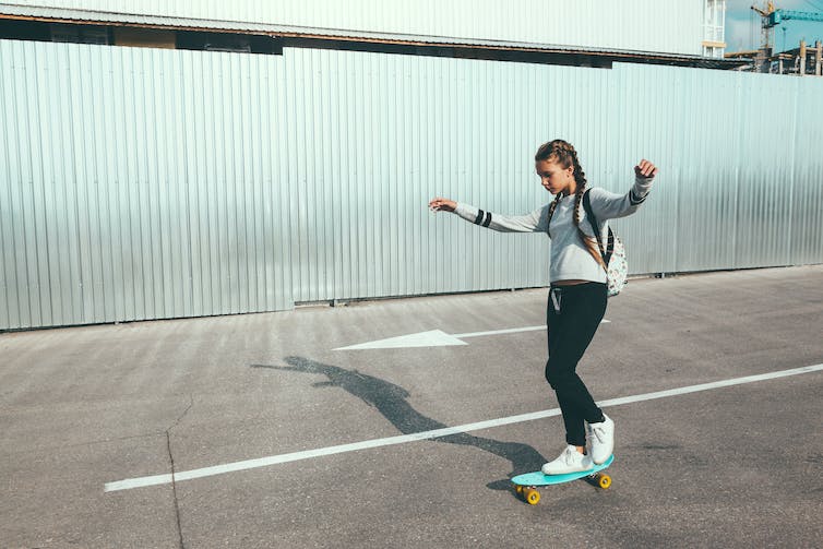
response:
<path id="1" fill-rule="evenodd" d="M 742 385 L 746 383 L 756 383 L 759 381 L 774 380 L 778 378 L 787 378 L 789 375 L 800 375 L 802 373 L 811 373 L 823 370 L 823 365 L 806 366 L 802 368 L 794 368 L 791 370 L 780 370 L 776 372 L 762 373 L 760 375 L 747 375 L 744 378 L 733 378 L 730 380 L 715 381 L 712 383 L 702 383 L 700 385 L 690 385 L 685 387 L 670 389 L 668 391 L 657 391 L 654 393 L 644 393 L 633 396 L 623 396 L 621 398 L 611 398 L 598 403 L 601 407 L 620 406 L 621 404 L 639 403 L 643 401 L 654 401 L 656 398 L 667 398 L 669 396 L 683 395 L 689 393 L 697 393 L 700 391 L 709 391 L 713 389 L 721 389 L 733 385 Z M 279 463 L 296 462 L 299 460 L 310 460 L 312 457 L 321 457 L 332 454 L 341 454 L 344 452 L 356 452 L 358 450 L 367 450 L 370 447 L 390 446 L 394 444 L 403 444 L 406 442 L 414 442 L 428 439 L 437 439 L 439 437 L 446 437 L 449 434 L 457 434 L 463 432 L 479 431 L 482 429 L 489 429 L 491 427 L 500 427 L 511 423 L 520 423 L 523 421 L 533 421 L 535 419 L 542 419 L 551 416 L 559 416 L 560 409 L 553 408 L 542 411 L 535 411 L 532 414 L 521 414 L 517 416 L 509 416 L 499 419 L 489 419 L 487 421 L 478 421 L 476 423 L 466 423 L 456 427 L 446 427 L 443 429 L 436 429 L 433 431 L 422 431 L 413 434 L 402 434 L 398 437 L 389 437 L 385 439 L 373 439 L 361 442 L 353 442 L 350 444 L 341 444 L 337 446 L 327 446 L 317 450 L 307 450 L 305 452 L 294 452 L 290 454 L 272 455 L 269 457 L 261 457 L 259 460 L 247 460 L 242 462 L 235 462 L 225 465 L 215 465 L 213 467 L 204 467 L 200 469 L 183 470 L 175 474 L 175 482 L 181 480 L 191 480 L 194 478 L 211 477 L 214 475 L 223 475 L 226 473 L 235 473 L 238 470 L 254 469 L 258 467 L 266 467 L 269 465 L 276 465 Z M 142 488 L 146 486 L 167 485 L 171 482 L 171 475 L 155 475 L 151 477 L 131 478 L 126 480 L 118 480 L 116 482 L 107 482 L 104 490 L 106 492 L 114 492 L 118 490 L 130 490 L 133 488 Z"/>

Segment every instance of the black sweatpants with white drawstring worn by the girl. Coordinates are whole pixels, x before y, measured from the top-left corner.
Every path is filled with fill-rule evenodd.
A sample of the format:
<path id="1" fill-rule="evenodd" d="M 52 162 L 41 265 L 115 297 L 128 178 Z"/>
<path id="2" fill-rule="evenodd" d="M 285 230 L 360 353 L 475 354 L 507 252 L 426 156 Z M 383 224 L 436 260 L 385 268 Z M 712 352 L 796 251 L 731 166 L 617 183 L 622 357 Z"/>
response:
<path id="1" fill-rule="evenodd" d="M 549 289 L 546 380 L 554 390 L 563 413 L 565 441 L 575 446 L 586 445 L 584 421 L 596 423 L 604 420 L 603 411 L 576 369 L 606 313 L 606 285 L 599 283 L 552 286 Z"/>

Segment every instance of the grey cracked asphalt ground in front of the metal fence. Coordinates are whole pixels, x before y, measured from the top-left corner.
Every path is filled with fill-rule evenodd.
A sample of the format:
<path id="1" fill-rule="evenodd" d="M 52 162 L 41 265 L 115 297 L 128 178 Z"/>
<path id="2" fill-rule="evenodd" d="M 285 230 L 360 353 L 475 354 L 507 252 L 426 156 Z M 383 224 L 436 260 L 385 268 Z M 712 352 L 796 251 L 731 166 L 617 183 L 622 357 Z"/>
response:
<path id="1" fill-rule="evenodd" d="M 557 407 L 544 332 L 333 350 L 539 325 L 546 294 L 0 334 L 0 547 L 820 547 L 823 371 L 610 407 L 612 487 L 536 506 L 509 479 L 559 417 L 181 478 Z M 821 365 L 823 266 L 635 279 L 606 318 L 598 401 Z"/>

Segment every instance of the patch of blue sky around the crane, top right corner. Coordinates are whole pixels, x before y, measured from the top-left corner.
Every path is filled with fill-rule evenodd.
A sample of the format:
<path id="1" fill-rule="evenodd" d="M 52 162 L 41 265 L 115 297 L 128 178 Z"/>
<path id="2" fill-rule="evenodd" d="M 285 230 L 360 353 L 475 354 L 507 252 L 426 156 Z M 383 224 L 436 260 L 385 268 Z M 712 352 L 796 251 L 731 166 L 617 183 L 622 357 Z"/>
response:
<path id="1" fill-rule="evenodd" d="M 823 0 L 773 1 L 778 9 L 823 13 Z M 750 7 L 754 4 L 763 8 L 765 3 L 765 0 L 726 0 L 726 52 L 758 48 L 761 17 Z M 790 20 L 782 23 L 774 31 L 775 50 L 797 48 L 802 38 L 810 46 L 814 45 L 815 39 L 823 41 L 823 22 Z"/>

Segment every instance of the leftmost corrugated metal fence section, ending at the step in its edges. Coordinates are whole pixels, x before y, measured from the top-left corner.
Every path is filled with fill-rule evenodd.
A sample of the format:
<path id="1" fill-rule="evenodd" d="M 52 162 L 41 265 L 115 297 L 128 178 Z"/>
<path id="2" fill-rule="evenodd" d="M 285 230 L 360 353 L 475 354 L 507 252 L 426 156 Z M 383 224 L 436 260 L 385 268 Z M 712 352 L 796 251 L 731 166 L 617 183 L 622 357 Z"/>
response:
<path id="1" fill-rule="evenodd" d="M 291 307 L 279 61 L 0 41 L 0 327 Z"/>

